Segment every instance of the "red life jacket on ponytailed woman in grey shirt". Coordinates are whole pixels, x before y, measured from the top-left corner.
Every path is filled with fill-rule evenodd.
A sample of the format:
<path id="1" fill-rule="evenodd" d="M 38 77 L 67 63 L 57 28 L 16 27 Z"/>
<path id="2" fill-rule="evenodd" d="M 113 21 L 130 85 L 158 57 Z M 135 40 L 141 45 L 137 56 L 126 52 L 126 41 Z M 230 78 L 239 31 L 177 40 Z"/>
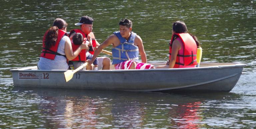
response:
<path id="1" fill-rule="evenodd" d="M 66 36 L 68 36 L 68 35 L 67 35 L 67 33 L 65 31 L 59 29 L 58 30 L 58 38 L 57 38 L 57 41 L 56 41 L 55 45 L 51 46 L 51 48 L 48 49 L 48 48 L 45 48 L 45 43 L 44 43 L 45 38 L 46 38 L 45 36 L 46 36 L 47 33 L 48 33 L 48 31 L 45 32 L 45 34 L 44 34 L 43 50 L 42 50 L 42 53 L 41 53 L 40 57 L 44 57 L 44 58 L 53 60 L 56 55 L 61 55 L 60 53 L 57 52 L 61 38 L 64 35 L 66 35 Z M 65 56 L 65 55 L 61 55 L 61 56 Z"/>

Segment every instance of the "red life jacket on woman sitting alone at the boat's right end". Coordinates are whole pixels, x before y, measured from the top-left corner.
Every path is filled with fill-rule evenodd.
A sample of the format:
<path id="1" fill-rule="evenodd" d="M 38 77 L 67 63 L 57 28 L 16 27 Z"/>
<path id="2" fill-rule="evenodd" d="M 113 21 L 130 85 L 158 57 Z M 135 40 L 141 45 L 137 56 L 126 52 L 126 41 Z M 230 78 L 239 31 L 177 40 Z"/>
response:
<path id="1" fill-rule="evenodd" d="M 183 43 L 183 55 L 181 55 L 178 52 L 176 62 L 174 65 L 174 68 L 179 68 L 180 65 L 183 66 L 189 66 L 189 65 L 196 65 L 196 53 L 197 53 L 197 46 L 195 40 L 192 38 L 192 36 L 188 33 L 175 33 L 174 35 L 177 35 L 180 37 L 182 43 Z M 174 35 L 172 35 L 172 39 L 170 42 L 170 49 L 169 49 L 169 59 L 171 59 L 171 53 L 172 53 L 172 43 Z M 180 57 L 183 60 L 184 64 L 180 62 Z"/>

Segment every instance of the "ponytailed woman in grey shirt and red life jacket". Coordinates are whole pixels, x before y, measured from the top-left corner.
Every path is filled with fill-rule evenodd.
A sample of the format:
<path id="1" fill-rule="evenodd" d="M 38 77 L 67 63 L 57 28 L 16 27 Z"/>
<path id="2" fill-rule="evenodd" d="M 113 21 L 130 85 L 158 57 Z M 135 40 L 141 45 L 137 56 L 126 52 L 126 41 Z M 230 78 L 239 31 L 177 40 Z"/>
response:
<path id="1" fill-rule="evenodd" d="M 46 31 L 43 38 L 43 50 L 37 64 L 38 69 L 67 70 L 67 59 L 72 60 L 78 56 L 82 49 L 87 49 L 88 46 L 83 43 L 73 51 L 66 29 L 66 21 L 56 18 L 52 27 Z"/>

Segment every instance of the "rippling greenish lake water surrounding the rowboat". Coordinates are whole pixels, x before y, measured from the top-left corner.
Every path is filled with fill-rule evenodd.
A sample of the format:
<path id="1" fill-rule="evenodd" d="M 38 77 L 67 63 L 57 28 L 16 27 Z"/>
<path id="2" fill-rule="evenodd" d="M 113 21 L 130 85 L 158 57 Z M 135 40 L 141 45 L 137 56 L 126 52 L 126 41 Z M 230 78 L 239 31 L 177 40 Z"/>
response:
<path id="1" fill-rule="evenodd" d="M 0 128 L 255 128 L 256 1 L 6 1 L 0 5 Z M 164 62 L 171 25 L 197 35 L 204 62 L 247 64 L 230 93 L 164 94 L 14 87 L 10 69 L 37 65 L 42 36 L 60 17 L 94 18 L 103 42 L 133 21 L 148 62 Z M 111 50 L 108 47 L 107 50 Z"/>

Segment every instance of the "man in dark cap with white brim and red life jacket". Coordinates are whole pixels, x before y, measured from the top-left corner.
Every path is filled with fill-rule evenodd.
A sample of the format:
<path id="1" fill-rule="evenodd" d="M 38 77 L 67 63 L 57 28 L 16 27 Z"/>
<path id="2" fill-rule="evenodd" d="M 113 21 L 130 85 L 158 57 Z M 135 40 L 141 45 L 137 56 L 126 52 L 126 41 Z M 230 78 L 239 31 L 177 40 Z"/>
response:
<path id="1" fill-rule="evenodd" d="M 93 18 L 89 16 L 82 16 L 79 23 L 75 24 L 76 26 L 80 26 L 80 29 L 74 29 L 71 30 L 69 33 L 69 37 L 73 33 L 81 33 L 83 35 L 84 41 L 88 42 L 89 39 L 92 39 L 92 44 L 88 45 L 89 47 L 89 52 L 86 52 L 86 58 L 91 59 L 92 55 L 94 54 L 94 50 L 100 45 L 97 40 L 94 37 L 94 34 L 92 32 L 92 26 L 93 26 Z M 110 59 L 108 57 L 98 57 L 98 61 L 95 61 L 94 66 L 97 68 L 98 65 L 98 70 L 108 70 L 110 69 Z M 97 70 L 97 69 L 96 69 Z"/>

